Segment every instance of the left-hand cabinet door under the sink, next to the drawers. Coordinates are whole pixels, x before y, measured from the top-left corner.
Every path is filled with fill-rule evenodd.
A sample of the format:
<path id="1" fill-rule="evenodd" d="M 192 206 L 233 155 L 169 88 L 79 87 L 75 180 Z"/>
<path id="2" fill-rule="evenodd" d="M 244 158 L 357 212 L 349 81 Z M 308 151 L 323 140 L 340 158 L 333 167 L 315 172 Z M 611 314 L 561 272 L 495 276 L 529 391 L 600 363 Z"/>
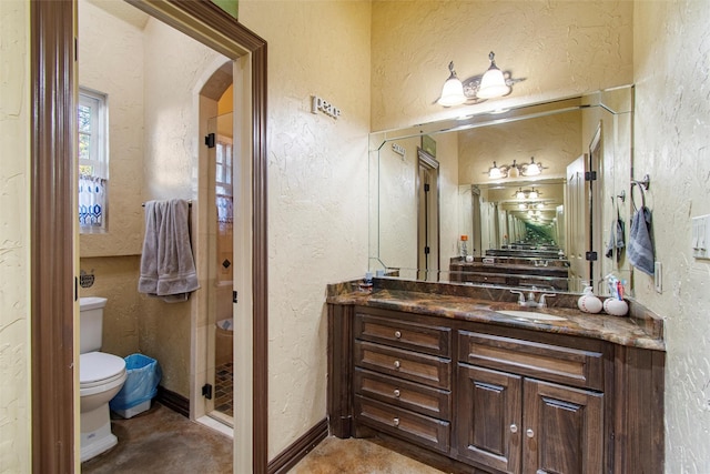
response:
<path id="1" fill-rule="evenodd" d="M 457 457 L 519 473 L 523 377 L 466 364 L 457 375 Z"/>

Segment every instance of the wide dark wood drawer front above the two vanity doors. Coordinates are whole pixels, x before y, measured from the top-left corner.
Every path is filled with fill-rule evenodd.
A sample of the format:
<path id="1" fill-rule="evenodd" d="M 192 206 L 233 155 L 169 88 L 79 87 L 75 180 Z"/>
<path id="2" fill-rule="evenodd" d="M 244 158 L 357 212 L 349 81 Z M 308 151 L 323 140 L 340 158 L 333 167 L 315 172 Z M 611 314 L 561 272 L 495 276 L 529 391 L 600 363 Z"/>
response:
<path id="1" fill-rule="evenodd" d="M 604 343 L 572 349 L 496 334 L 459 331 L 458 360 L 471 365 L 592 390 L 604 390 Z M 560 336 L 564 337 L 564 336 Z"/>

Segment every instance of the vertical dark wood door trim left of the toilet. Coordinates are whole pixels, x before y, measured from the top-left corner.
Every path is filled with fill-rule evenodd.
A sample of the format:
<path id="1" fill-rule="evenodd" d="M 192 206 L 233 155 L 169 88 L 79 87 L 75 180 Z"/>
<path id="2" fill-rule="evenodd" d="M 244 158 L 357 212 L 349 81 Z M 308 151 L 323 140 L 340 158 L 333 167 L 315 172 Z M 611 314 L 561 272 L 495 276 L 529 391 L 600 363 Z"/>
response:
<path id="1" fill-rule="evenodd" d="M 74 470 L 74 123 L 71 0 L 30 3 L 32 471 Z M 28 354 L 28 356 L 30 356 Z M 78 406 L 78 405 L 77 405 Z"/>

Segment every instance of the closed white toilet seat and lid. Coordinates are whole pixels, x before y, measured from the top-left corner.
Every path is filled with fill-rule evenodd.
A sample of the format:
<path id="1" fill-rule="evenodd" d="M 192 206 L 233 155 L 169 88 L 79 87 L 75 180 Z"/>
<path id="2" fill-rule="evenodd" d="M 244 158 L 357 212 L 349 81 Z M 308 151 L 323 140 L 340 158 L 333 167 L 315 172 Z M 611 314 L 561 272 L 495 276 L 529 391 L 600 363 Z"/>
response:
<path id="1" fill-rule="evenodd" d="M 80 395 L 105 392 L 125 381 L 125 361 L 118 355 L 88 352 L 79 355 Z"/>

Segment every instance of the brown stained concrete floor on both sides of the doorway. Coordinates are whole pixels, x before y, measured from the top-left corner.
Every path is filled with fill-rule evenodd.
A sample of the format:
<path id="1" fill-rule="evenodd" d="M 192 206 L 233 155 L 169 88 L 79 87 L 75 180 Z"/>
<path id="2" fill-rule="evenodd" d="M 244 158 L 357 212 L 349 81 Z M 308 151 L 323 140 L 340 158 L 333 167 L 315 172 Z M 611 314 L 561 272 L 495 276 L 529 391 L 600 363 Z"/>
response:
<path id="1" fill-rule="evenodd" d="M 130 420 L 112 414 L 119 444 L 81 465 L 85 474 L 232 473 L 232 438 L 153 402 Z M 367 440 L 327 437 L 290 474 L 440 474 Z"/>

